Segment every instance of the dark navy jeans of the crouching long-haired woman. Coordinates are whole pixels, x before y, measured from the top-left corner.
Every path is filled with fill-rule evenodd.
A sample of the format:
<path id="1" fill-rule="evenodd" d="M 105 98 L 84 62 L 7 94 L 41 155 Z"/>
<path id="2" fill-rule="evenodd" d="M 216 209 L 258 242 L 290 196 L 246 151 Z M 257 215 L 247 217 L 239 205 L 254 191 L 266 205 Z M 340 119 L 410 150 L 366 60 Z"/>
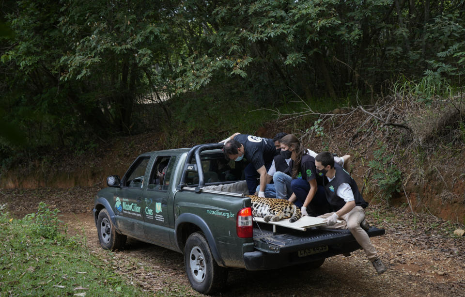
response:
<path id="1" fill-rule="evenodd" d="M 298 207 L 302 207 L 307 195 L 310 192 L 310 184 L 303 179 L 293 179 L 291 181 L 291 189 L 295 194 L 297 200 L 294 202 Z M 311 200 L 310 204 L 307 206 L 307 212 L 311 215 L 323 215 L 330 211 L 330 206 L 326 200 L 325 187 L 318 185 L 316 189 L 315 196 Z"/>

